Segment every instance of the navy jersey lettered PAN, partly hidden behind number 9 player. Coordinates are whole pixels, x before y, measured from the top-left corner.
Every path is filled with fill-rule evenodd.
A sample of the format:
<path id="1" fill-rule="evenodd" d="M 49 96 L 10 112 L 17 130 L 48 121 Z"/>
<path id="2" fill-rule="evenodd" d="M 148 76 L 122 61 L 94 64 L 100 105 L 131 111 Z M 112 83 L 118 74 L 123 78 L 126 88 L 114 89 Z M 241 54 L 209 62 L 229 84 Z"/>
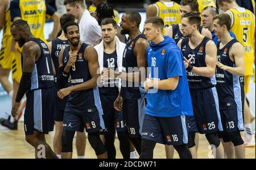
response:
<path id="1" fill-rule="evenodd" d="M 54 67 L 55 67 L 56 77 L 59 76 L 60 51 L 61 51 L 61 49 L 65 48 L 67 46 L 68 46 L 68 40 L 61 40 L 59 38 L 52 40 L 51 56 L 52 56 L 52 61 L 53 61 Z"/>

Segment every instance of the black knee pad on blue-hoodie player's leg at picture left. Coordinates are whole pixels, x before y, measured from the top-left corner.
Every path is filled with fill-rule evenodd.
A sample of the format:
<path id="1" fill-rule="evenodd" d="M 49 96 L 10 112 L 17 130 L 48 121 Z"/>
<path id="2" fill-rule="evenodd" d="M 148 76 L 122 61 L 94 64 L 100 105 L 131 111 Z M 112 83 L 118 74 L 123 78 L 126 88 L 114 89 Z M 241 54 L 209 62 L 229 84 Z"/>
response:
<path id="1" fill-rule="evenodd" d="M 153 140 L 142 139 L 139 159 L 153 159 L 155 144 Z"/>

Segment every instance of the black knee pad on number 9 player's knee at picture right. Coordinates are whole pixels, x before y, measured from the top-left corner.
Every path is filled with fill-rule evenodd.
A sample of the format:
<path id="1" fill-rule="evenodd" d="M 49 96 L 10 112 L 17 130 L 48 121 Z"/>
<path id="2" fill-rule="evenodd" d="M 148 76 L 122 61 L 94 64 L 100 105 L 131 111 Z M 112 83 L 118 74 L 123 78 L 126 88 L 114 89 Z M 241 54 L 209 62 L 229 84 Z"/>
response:
<path id="1" fill-rule="evenodd" d="M 99 132 L 91 132 L 88 133 L 88 141 L 90 146 L 92 146 L 96 155 L 102 155 L 106 152 L 105 146 L 101 141 Z"/>

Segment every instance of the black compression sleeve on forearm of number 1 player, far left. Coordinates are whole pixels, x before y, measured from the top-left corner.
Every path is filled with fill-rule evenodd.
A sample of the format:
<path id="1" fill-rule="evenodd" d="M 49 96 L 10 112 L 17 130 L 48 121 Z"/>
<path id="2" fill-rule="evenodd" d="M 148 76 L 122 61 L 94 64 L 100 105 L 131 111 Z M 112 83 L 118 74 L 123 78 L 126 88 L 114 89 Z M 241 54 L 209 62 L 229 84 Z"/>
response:
<path id="1" fill-rule="evenodd" d="M 22 73 L 22 78 L 20 79 L 20 83 L 19 83 L 19 89 L 16 95 L 16 102 L 20 102 L 20 100 L 22 99 L 22 97 L 24 96 L 24 94 L 30 90 L 31 88 L 31 76 L 32 73 Z"/>

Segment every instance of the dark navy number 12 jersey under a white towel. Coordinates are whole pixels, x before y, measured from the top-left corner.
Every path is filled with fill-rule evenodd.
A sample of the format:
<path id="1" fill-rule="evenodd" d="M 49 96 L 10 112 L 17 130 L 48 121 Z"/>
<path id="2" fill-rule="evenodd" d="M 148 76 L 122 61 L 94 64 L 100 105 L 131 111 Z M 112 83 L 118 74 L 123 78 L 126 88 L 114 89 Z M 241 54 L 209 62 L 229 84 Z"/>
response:
<path id="1" fill-rule="evenodd" d="M 111 68 L 114 70 L 117 69 L 117 51 L 114 51 L 110 54 L 104 52 L 103 67 Z M 102 85 L 104 86 L 98 89 L 100 94 L 107 94 L 111 96 L 118 95 L 118 82 L 119 78 L 112 78 L 108 81 L 102 82 Z"/>

